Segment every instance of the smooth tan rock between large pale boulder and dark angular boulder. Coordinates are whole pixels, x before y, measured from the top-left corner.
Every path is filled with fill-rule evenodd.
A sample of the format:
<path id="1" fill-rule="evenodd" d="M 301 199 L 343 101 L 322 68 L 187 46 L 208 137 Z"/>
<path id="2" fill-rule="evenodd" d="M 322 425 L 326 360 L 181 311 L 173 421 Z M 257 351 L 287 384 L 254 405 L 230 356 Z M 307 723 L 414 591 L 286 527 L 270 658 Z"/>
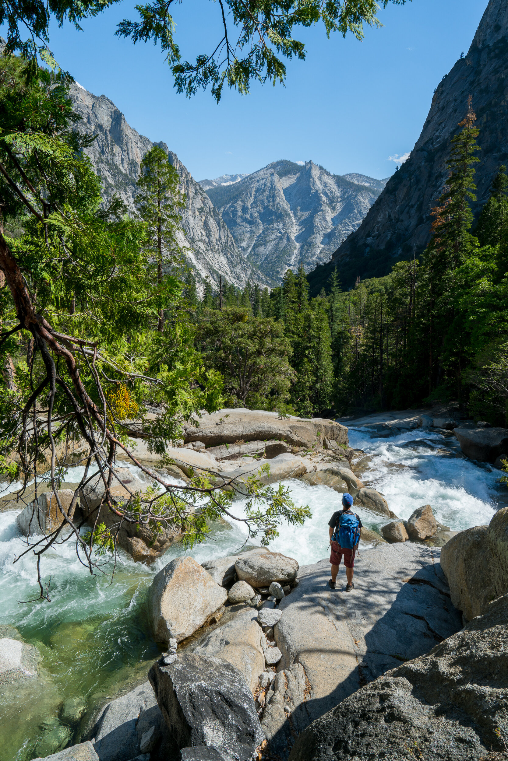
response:
<path id="1" fill-rule="evenodd" d="M 240 671 L 251 692 L 264 671 L 267 638 L 257 624 L 255 610 L 241 610 L 231 621 L 203 637 L 193 648 L 196 655 L 222 658 Z"/>

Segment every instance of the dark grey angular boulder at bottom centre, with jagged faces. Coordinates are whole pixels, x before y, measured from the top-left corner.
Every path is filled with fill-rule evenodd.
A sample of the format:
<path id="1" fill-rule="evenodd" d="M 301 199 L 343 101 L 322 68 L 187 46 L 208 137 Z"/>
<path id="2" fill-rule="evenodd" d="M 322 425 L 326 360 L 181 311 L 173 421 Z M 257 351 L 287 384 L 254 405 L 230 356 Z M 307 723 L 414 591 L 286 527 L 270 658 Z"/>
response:
<path id="1" fill-rule="evenodd" d="M 177 747 L 251 761 L 263 733 L 251 690 L 232 664 L 184 652 L 171 666 L 155 663 L 149 680 Z"/>

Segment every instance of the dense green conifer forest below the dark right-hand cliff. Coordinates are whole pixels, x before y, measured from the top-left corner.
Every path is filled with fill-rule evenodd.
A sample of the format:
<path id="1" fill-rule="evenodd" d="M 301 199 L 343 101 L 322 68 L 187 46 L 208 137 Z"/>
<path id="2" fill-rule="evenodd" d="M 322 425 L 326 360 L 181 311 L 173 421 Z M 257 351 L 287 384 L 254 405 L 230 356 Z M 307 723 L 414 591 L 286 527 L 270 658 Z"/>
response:
<path id="1" fill-rule="evenodd" d="M 248 284 L 243 292 L 225 287 L 215 296 L 209 290 L 203 304 L 194 301 L 196 347 L 209 368 L 220 368 L 229 404 L 312 416 L 455 400 L 471 416 L 506 424 L 508 178 L 498 167 L 471 228 L 482 132 L 471 102 L 464 112 L 422 256 L 350 289 L 340 287 L 334 269 L 327 292 L 315 298 L 300 266 L 270 294 Z M 221 302 L 217 318 L 213 309 Z M 244 331 L 241 340 L 235 325 Z M 256 339 L 270 333 L 275 363 Z M 233 348 L 245 357 L 250 352 L 254 376 L 263 379 L 244 396 L 238 394 L 244 368 L 228 359 Z"/>

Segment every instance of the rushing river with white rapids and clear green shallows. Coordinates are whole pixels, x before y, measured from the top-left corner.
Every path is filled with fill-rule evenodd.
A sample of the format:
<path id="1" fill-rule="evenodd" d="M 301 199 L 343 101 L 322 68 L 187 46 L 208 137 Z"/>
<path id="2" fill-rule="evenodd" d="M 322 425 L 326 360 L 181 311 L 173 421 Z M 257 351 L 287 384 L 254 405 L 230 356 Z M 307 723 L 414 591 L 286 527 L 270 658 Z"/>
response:
<path id="1" fill-rule="evenodd" d="M 352 425 L 349 436 L 350 445 L 365 453 L 356 455 L 366 469 L 363 481 L 382 492 L 401 518 L 430 504 L 438 521 L 461 530 L 487 524 L 506 503 L 500 471 L 462 457 L 452 435 L 417 429 L 387 439 Z M 69 482 L 75 476 L 69 473 Z M 340 495 L 326 486 L 288 483 L 292 498 L 309 505 L 312 518 L 304 527 L 281 527 L 270 549 L 295 557 L 300 565 L 316 562 L 327 556 L 327 521 L 339 508 Z M 235 502 L 235 514 L 241 516 L 243 507 L 243 501 Z M 366 527 L 379 530 L 386 522 L 355 509 Z M 65 543 L 46 553 L 41 564 L 43 577 L 51 577 L 51 602 L 30 602 L 38 597 L 34 557 L 13 563 L 25 549 L 16 530 L 18 512 L 0 512 L 0 637 L 9 636 L 8 626 L 14 626 L 38 648 L 41 663 L 37 679 L 2 686 L 4 761 L 29 761 L 54 752 L 56 743 L 80 740 L 97 707 L 139 683 L 158 657 L 146 613 L 155 573 L 177 555 L 203 562 L 235 552 L 246 536 L 243 524 L 218 526 L 200 546 L 190 552 L 170 549 L 150 568 L 122 552 L 113 583 L 110 562 L 104 575 L 92 576 L 76 558 L 75 544 Z M 80 720 L 70 718 L 69 702 L 75 709 L 81 706 Z"/>

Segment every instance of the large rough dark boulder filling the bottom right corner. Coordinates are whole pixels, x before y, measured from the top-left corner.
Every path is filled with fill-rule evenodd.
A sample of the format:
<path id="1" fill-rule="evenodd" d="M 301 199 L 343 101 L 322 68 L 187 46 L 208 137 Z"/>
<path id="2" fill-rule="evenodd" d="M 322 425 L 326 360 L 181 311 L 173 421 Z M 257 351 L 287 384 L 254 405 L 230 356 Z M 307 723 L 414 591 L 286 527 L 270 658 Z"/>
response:
<path id="1" fill-rule="evenodd" d="M 296 740 L 290 761 L 505 758 L 506 621 L 508 595 L 430 653 L 314 721 Z"/>

